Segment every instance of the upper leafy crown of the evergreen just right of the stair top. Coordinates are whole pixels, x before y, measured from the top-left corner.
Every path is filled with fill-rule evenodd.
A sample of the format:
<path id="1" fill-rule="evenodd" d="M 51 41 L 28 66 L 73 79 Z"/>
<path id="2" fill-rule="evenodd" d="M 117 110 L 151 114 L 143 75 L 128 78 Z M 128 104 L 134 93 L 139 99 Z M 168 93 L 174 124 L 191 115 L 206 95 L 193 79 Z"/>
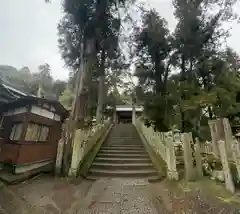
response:
<path id="1" fill-rule="evenodd" d="M 136 43 L 136 71 L 146 90 L 164 94 L 171 51 L 167 22 L 155 10 L 142 12 L 143 24 L 134 32 Z"/>

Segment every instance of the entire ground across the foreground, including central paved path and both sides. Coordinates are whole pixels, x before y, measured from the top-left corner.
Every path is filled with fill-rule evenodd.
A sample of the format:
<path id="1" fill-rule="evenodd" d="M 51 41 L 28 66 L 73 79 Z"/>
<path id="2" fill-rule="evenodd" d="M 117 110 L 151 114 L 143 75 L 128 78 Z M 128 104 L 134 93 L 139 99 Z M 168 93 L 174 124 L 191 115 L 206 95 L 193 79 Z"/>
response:
<path id="1" fill-rule="evenodd" d="M 40 176 L 27 182 L 0 184 L 0 214 L 235 214 L 240 194 L 231 195 L 210 180 L 184 183 L 143 179 L 96 182 Z"/>

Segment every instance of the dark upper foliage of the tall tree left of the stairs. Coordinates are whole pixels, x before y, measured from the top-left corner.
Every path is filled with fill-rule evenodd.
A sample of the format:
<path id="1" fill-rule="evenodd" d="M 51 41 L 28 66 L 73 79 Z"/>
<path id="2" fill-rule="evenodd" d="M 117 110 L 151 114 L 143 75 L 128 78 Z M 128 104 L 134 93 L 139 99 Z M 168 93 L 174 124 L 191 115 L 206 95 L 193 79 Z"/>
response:
<path id="1" fill-rule="evenodd" d="M 131 0 L 65 0 L 65 16 L 59 23 L 59 47 L 66 64 L 77 69 L 80 63 L 80 44 L 94 41 L 93 53 L 100 64 L 104 50 L 113 59 L 118 55 L 118 39 L 121 19 L 117 15 L 121 7 Z M 120 6 L 120 7 L 119 7 Z"/>

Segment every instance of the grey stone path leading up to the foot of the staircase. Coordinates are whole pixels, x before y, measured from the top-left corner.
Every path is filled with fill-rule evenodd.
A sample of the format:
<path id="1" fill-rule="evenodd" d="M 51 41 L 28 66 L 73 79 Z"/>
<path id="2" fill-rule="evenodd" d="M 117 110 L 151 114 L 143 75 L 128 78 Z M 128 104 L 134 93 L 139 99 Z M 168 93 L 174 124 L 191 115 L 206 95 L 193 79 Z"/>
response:
<path id="1" fill-rule="evenodd" d="M 95 182 L 86 198 L 75 205 L 69 213 L 151 213 L 157 210 L 151 199 L 147 180 L 99 180 Z"/>

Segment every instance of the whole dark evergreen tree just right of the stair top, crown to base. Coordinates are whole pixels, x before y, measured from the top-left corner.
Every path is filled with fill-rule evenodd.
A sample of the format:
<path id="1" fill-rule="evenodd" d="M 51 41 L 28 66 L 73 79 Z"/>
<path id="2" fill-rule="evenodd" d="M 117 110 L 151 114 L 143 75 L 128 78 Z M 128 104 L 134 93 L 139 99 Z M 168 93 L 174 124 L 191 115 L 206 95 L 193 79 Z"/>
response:
<path id="1" fill-rule="evenodd" d="M 164 20 L 155 10 L 142 11 L 142 26 L 135 28 L 136 100 L 145 104 L 145 111 L 156 128 L 167 131 L 170 127 L 171 99 L 167 95 L 170 69 L 171 36 Z"/>

